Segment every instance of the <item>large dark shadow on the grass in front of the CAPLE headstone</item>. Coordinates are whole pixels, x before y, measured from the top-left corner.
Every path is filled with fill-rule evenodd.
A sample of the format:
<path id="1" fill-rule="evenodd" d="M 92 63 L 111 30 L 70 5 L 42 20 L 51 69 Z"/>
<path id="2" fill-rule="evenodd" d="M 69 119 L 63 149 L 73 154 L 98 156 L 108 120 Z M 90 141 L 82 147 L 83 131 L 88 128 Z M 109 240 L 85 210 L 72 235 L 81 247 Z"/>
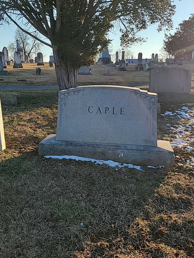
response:
<path id="1" fill-rule="evenodd" d="M 147 228 L 138 217 L 166 175 L 46 159 L 37 149 L 3 160 L 0 169 L 2 239 L 6 239 L 2 258 L 121 253 L 121 246 L 129 248 L 134 222 L 139 223 L 139 235 Z"/>

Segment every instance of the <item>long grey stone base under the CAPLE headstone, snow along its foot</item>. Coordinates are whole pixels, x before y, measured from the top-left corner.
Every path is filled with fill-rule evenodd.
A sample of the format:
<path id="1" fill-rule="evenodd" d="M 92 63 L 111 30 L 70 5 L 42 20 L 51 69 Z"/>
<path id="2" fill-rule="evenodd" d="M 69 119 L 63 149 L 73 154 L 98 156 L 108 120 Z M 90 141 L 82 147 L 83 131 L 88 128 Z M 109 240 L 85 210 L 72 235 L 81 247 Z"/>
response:
<path id="1" fill-rule="evenodd" d="M 46 155 L 74 155 L 133 165 L 163 165 L 168 169 L 175 159 L 169 141 L 159 140 L 157 146 L 92 143 L 56 140 L 56 134 L 50 134 L 39 143 L 39 156 Z"/>

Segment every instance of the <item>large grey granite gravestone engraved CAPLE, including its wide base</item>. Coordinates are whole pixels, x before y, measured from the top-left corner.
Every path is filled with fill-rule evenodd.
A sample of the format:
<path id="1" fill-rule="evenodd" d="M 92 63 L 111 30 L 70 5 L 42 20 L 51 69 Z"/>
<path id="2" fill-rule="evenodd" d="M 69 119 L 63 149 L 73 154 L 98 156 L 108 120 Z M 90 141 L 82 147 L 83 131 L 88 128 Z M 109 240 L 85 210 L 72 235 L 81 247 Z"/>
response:
<path id="1" fill-rule="evenodd" d="M 173 165 L 170 142 L 157 141 L 157 94 L 94 85 L 59 91 L 58 100 L 57 133 L 39 143 L 39 155 Z"/>

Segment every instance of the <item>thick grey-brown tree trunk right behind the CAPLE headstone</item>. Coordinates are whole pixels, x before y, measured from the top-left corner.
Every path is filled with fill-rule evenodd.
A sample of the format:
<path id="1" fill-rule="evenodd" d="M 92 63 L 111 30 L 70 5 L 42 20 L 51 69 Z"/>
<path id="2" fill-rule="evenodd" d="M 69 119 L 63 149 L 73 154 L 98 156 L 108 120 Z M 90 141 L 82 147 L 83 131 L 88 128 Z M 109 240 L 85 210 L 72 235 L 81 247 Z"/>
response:
<path id="1" fill-rule="evenodd" d="M 57 47 L 53 46 L 55 72 L 60 90 L 67 90 L 77 86 L 78 69 L 71 66 L 68 60 L 58 54 Z"/>

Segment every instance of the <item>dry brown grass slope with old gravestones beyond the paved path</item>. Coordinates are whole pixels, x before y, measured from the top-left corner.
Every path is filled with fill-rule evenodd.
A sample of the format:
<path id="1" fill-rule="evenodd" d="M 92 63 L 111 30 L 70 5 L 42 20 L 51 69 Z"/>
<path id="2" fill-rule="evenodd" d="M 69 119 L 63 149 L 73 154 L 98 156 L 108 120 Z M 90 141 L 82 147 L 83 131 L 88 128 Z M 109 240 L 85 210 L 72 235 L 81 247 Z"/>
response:
<path id="1" fill-rule="evenodd" d="M 7 66 L 8 76 L 3 76 L 4 81 L 0 85 L 57 85 L 55 68 L 50 68 L 49 63 L 41 66 L 42 76 L 35 76 L 35 69 L 38 67 L 36 63 L 23 63 L 23 69 L 13 69 L 13 65 Z M 106 76 L 104 74 L 104 66 L 91 66 L 92 76 L 78 75 L 78 85 L 93 84 L 141 84 L 149 83 L 149 72 L 135 71 L 135 65 L 126 67 L 126 72 L 120 72 L 116 69 L 115 76 Z M 175 66 L 173 66 L 175 67 Z M 178 66 L 176 66 L 178 67 Z M 117 66 L 118 68 L 118 66 Z M 193 71 L 192 81 L 194 83 L 194 65 L 187 64 L 179 66 L 179 68 L 191 69 Z M 5 69 L 6 70 L 6 69 Z M 17 82 L 18 79 L 27 79 L 27 82 Z"/>

